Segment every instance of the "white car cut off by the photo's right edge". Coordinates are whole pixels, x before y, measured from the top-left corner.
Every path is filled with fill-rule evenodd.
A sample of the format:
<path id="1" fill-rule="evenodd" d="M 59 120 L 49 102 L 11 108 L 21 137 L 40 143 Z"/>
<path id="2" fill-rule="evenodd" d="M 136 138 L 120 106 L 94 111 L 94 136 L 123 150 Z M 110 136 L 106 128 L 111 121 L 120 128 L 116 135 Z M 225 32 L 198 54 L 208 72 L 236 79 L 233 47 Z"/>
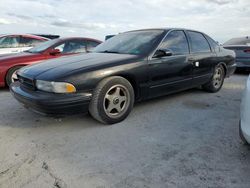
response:
<path id="1" fill-rule="evenodd" d="M 250 144 L 250 76 L 241 101 L 240 137 L 244 144 Z"/>

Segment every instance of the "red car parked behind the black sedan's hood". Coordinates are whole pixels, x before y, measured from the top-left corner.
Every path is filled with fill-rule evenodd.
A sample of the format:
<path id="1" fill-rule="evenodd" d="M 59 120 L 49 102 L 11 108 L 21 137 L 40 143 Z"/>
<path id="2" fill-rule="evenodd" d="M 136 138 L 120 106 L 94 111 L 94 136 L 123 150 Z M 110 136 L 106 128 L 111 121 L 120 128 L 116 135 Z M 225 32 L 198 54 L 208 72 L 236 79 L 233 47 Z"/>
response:
<path id="1" fill-rule="evenodd" d="M 91 38 L 60 38 L 44 42 L 19 54 L 0 55 L 0 87 L 17 80 L 16 72 L 23 66 L 76 53 L 86 53 L 101 41 Z"/>

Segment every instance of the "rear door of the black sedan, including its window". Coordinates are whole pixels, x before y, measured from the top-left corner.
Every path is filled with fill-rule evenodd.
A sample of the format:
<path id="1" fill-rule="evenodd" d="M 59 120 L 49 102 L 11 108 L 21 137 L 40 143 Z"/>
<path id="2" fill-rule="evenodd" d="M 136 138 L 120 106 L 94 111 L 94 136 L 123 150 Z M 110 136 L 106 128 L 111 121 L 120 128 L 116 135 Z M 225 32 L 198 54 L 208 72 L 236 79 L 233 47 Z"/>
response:
<path id="1" fill-rule="evenodd" d="M 209 81 L 213 74 L 213 67 L 217 63 L 217 54 L 212 50 L 205 36 L 196 31 L 186 31 L 191 54 L 189 62 L 194 65 L 193 84 L 200 85 Z"/>

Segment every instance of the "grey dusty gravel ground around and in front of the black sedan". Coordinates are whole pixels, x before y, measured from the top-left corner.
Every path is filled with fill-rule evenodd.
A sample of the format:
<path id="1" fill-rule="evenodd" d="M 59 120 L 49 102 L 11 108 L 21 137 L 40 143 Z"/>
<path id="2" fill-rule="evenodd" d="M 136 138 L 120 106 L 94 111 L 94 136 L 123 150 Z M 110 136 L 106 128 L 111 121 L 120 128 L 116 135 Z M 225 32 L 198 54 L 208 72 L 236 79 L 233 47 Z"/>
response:
<path id="1" fill-rule="evenodd" d="M 1 89 L 0 187 L 249 188 L 250 148 L 238 137 L 246 79 L 136 104 L 113 126 L 40 116 Z"/>

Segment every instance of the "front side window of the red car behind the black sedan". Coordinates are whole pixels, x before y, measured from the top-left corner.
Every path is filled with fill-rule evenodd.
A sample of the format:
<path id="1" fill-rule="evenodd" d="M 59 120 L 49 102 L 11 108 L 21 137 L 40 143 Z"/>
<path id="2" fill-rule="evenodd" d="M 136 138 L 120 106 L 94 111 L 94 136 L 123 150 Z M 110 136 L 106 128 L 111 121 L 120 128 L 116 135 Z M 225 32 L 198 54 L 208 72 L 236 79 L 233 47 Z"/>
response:
<path id="1" fill-rule="evenodd" d="M 61 53 L 83 53 L 86 52 L 85 41 L 67 41 L 56 46 L 55 49 L 59 49 Z"/>

